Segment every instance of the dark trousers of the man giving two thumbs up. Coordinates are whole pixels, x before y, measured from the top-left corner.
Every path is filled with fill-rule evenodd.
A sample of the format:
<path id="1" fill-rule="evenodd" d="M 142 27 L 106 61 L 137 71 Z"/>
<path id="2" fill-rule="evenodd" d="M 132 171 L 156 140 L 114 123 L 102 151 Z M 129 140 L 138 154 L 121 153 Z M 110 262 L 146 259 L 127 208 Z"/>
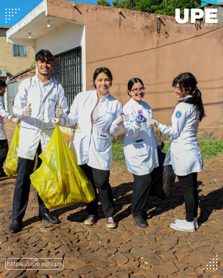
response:
<path id="1" fill-rule="evenodd" d="M 37 147 L 36 154 L 39 156 L 42 152 L 41 143 Z M 35 157 L 36 157 L 35 154 Z M 37 166 L 40 167 L 40 162 L 42 160 L 38 158 Z M 41 161 L 40 161 L 41 160 Z M 12 219 L 22 219 L 26 212 L 26 207 L 29 200 L 29 190 L 30 190 L 30 175 L 33 173 L 35 165 L 34 160 L 18 157 L 17 165 L 17 180 L 15 184 L 14 196 L 13 196 L 13 205 L 12 205 Z M 37 168 L 36 168 L 37 169 Z M 49 210 L 46 208 L 45 203 L 39 197 L 37 193 L 37 199 L 39 203 L 39 214 L 48 213 Z"/>

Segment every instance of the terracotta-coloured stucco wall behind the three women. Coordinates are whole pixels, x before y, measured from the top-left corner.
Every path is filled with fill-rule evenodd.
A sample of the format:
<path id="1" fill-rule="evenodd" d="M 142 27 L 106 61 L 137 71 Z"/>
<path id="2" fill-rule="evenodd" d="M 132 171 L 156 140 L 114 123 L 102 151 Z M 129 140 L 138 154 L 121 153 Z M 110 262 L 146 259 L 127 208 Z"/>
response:
<path id="1" fill-rule="evenodd" d="M 110 93 L 124 105 L 129 100 L 128 81 L 139 77 L 146 87 L 143 100 L 151 105 L 154 118 L 170 125 L 177 103 L 172 80 L 181 72 L 192 72 L 208 115 L 198 137 L 222 138 L 222 25 L 180 27 L 175 17 L 162 15 L 157 30 L 157 14 L 125 9 L 120 14 L 117 8 L 73 4 L 48 0 L 47 10 L 49 16 L 85 24 L 87 90 L 94 70 L 108 67 L 114 76 Z"/>

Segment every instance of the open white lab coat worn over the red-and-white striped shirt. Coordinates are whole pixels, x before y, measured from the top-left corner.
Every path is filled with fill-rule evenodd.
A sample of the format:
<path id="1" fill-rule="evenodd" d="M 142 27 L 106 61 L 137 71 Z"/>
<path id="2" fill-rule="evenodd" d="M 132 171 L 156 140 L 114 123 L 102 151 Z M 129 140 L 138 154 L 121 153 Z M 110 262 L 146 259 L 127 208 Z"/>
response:
<path id="1" fill-rule="evenodd" d="M 71 105 L 70 114 L 62 118 L 61 126 L 76 125 L 70 149 L 79 165 L 88 164 L 92 168 L 110 170 L 111 135 L 121 130 L 121 125 L 116 125 L 115 121 L 121 115 L 122 105 L 108 93 L 100 102 L 97 120 L 91 124 L 91 112 L 97 100 L 96 90 L 80 92 Z"/>

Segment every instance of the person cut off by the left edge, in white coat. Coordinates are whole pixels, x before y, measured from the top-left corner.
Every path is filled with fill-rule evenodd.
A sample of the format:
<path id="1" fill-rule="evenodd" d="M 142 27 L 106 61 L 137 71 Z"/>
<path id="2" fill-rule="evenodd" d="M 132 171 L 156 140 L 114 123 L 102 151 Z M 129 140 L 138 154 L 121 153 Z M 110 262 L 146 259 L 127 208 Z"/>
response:
<path id="1" fill-rule="evenodd" d="M 5 81 L 0 79 L 0 178 L 7 177 L 6 173 L 3 169 L 3 163 L 6 160 L 7 154 L 8 154 L 8 139 L 6 136 L 6 131 L 4 128 L 4 118 L 12 120 L 15 123 L 19 123 L 19 118 L 14 118 L 12 115 L 10 115 L 8 112 L 6 112 L 2 97 L 4 96 L 6 92 L 7 84 Z"/>

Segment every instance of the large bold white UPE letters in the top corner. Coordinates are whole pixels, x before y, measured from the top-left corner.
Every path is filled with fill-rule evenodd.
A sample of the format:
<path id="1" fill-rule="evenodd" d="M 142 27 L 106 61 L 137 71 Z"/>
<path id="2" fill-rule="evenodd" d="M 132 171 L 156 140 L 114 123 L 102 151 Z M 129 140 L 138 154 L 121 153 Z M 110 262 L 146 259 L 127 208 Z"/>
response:
<path id="1" fill-rule="evenodd" d="M 191 10 L 191 23 L 196 23 L 196 19 L 200 19 L 204 16 L 204 11 L 201 9 Z M 196 13 L 199 13 L 196 15 Z M 217 9 L 205 9 L 205 23 L 217 23 L 217 19 L 211 19 L 217 17 Z M 184 9 L 184 19 L 180 19 L 180 9 L 175 9 L 175 19 L 178 23 L 187 23 L 189 19 L 189 9 Z"/>

